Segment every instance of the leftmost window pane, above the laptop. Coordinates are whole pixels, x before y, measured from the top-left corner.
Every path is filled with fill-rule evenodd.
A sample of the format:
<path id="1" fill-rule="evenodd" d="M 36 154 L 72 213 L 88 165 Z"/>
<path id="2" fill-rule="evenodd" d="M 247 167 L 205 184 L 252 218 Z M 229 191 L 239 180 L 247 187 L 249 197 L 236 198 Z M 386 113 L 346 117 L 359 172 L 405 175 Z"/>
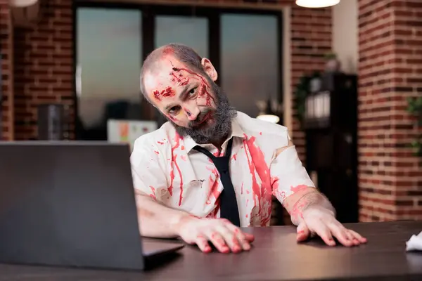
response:
<path id="1" fill-rule="evenodd" d="M 107 119 L 138 119 L 141 12 L 77 10 L 77 109 L 85 139 L 106 139 Z"/>

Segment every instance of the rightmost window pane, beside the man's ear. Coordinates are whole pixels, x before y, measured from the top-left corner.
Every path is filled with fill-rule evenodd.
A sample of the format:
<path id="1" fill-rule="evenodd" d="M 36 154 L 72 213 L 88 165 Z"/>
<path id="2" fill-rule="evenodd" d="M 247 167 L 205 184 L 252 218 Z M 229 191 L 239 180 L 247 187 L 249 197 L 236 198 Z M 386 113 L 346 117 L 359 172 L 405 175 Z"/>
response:
<path id="1" fill-rule="evenodd" d="M 251 100 L 278 98 L 277 27 L 277 18 L 271 15 L 221 16 L 222 89 L 237 110 L 253 117 L 259 110 Z"/>

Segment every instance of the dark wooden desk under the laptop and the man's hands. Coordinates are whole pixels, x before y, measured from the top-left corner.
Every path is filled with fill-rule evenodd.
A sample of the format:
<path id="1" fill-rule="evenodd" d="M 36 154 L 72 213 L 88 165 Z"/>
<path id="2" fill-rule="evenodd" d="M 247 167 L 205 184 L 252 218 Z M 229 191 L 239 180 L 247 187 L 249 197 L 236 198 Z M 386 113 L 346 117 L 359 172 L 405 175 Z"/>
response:
<path id="1" fill-rule="evenodd" d="M 422 221 L 347 225 L 368 238 L 359 247 L 326 247 L 321 240 L 295 242 L 295 228 L 250 228 L 249 252 L 203 254 L 186 247 L 180 255 L 144 273 L 0 265 L 0 280 L 422 280 L 422 252 L 405 242 Z"/>

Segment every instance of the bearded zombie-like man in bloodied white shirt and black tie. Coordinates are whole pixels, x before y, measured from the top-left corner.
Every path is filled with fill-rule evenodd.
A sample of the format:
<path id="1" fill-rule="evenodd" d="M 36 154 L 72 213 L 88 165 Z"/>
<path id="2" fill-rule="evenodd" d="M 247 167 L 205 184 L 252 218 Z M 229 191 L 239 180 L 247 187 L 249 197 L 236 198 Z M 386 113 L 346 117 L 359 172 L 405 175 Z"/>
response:
<path id="1" fill-rule="evenodd" d="M 169 122 L 138 138 L 131 156 L 141 235 L 178 236 L 205 252 L 210 242 L 224 253 L 248 250 L 254 237 L 239 226 L 269 226 L 274 195 L 298 241 L 366 242 L 335 219 L 286 127 L 236 112 L 216 80 L 210 60 L 179 44 L 143 63 L 141 91 Z"/>

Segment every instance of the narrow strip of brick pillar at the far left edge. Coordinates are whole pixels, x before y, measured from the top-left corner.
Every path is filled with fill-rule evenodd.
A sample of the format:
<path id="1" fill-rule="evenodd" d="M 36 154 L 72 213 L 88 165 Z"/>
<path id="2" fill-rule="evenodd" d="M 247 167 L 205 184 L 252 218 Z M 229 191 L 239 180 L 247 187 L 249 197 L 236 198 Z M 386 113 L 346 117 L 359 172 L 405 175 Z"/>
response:
<path id="1" fill-rule="evenodd" d="M 0 141 L 13 139 L 13 30 L 8 0 L 0 0 Z"/>

